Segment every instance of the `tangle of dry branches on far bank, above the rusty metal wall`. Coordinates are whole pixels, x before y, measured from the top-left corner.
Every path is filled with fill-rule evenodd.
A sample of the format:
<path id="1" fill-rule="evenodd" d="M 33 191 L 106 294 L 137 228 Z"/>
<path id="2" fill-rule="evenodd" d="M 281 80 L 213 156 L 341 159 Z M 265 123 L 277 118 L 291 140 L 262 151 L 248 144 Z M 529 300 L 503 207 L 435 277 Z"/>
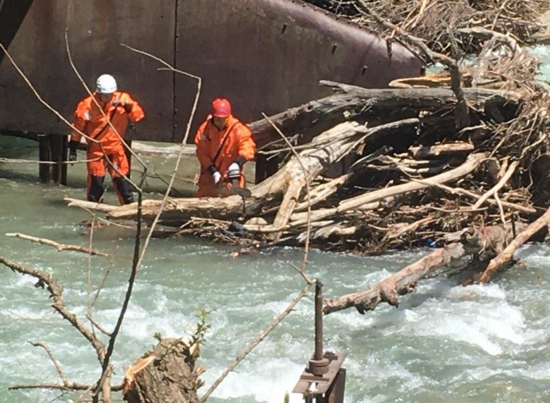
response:
<path id="1" fill-rule="evenodd" d="M 380 32 L 380 21 L 388 21 L 401 30 L 423 39 L 435 51 L 450 51 L 452 32 L 472 27 L 509 34 L 520 41 L 540 32 L 539 18 L 550 8 L 547 0 L 307 0 L 335 14 Z M 384 29 L 387 36 L 393 30 Z M 465 38 L 462 49 L 477 53 L 479 41 Z"/>

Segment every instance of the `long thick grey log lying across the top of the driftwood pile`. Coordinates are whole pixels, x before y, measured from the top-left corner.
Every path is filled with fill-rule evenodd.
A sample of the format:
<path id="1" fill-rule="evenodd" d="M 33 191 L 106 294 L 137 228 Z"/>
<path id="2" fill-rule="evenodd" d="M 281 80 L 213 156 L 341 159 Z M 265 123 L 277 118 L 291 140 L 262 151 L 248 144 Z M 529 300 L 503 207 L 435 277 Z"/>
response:
<path id="1" fill-rule="evenodd" d="M 287 136 L 301 134 L 300 143 L 310 141 L 318 133 L 345 120 L 361 116 L 367 120 L 382 119 L 391 122 L 415 117 L 420 111 L 439 111 L 456 105 L 450 89 L 364 89 L 348 84 L 322 81 L 335 95 L 307 102 L 278 113 L 270 120 Z M 476 111 L 498 110 L 505 104 L 518 104 L 519 93 L 492 89 L 465 88 L 465 98 Z M 259 149 L 280 139 L 270 122 L 261 119 L 250 124 Z"/>

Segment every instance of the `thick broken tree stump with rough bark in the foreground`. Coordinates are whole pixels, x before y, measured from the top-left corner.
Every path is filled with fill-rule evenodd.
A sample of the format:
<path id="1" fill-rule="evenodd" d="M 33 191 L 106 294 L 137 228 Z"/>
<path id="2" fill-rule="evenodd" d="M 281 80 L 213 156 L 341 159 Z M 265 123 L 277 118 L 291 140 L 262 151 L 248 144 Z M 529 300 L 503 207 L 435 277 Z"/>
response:
<path id="1" fill-rule="evenodd" d="M 198 403 L 199 374 L 189 347 L 176 338 L 163 338 L 153 352 L 124 374 L 122 395 L 129 403 Z"/>

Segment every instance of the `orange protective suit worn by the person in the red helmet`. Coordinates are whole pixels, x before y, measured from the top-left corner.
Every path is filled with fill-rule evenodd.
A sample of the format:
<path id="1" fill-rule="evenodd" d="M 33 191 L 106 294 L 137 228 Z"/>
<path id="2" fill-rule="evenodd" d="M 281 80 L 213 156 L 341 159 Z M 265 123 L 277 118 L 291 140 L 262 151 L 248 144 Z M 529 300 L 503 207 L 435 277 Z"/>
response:
<path id="1" fill-rule="evenodd" d="M 227 179 L 227 174 L 229 165 L 234 162 L 239 163 L 241 170 L 239 187 L 245 187 L 243 163 L 254 159 L 256 143 L 252 139 L 250 129 L 239 119 L 230 115 L 225 127 L 219 130 L 212 123 L 212 115 L 208 115 L 206 121 L 197 130 L 195 146 L 197 146 L 197 158 L 201 163 L 197 197 L 230 194 L 231 183 Z M 214 183 L 210 172 L 212 165 L 222 176 L 218 184 Z"/>

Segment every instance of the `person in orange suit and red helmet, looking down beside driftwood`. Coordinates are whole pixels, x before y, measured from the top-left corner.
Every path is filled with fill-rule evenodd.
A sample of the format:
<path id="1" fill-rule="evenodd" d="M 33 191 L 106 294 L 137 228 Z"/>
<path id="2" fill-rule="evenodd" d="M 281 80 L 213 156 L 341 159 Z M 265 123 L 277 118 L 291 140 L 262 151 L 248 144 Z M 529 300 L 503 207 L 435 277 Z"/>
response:
<path id="1" fill-rule="evenodd" d="M 243 165 L 254 159 L 256 143 L 250 129 L 231 114 L 224 98 L 212 101 L 212 110 L 195 135 L 201 163 L 197 197 L 228 196 L 232 186 L 245 187 Z"/>

